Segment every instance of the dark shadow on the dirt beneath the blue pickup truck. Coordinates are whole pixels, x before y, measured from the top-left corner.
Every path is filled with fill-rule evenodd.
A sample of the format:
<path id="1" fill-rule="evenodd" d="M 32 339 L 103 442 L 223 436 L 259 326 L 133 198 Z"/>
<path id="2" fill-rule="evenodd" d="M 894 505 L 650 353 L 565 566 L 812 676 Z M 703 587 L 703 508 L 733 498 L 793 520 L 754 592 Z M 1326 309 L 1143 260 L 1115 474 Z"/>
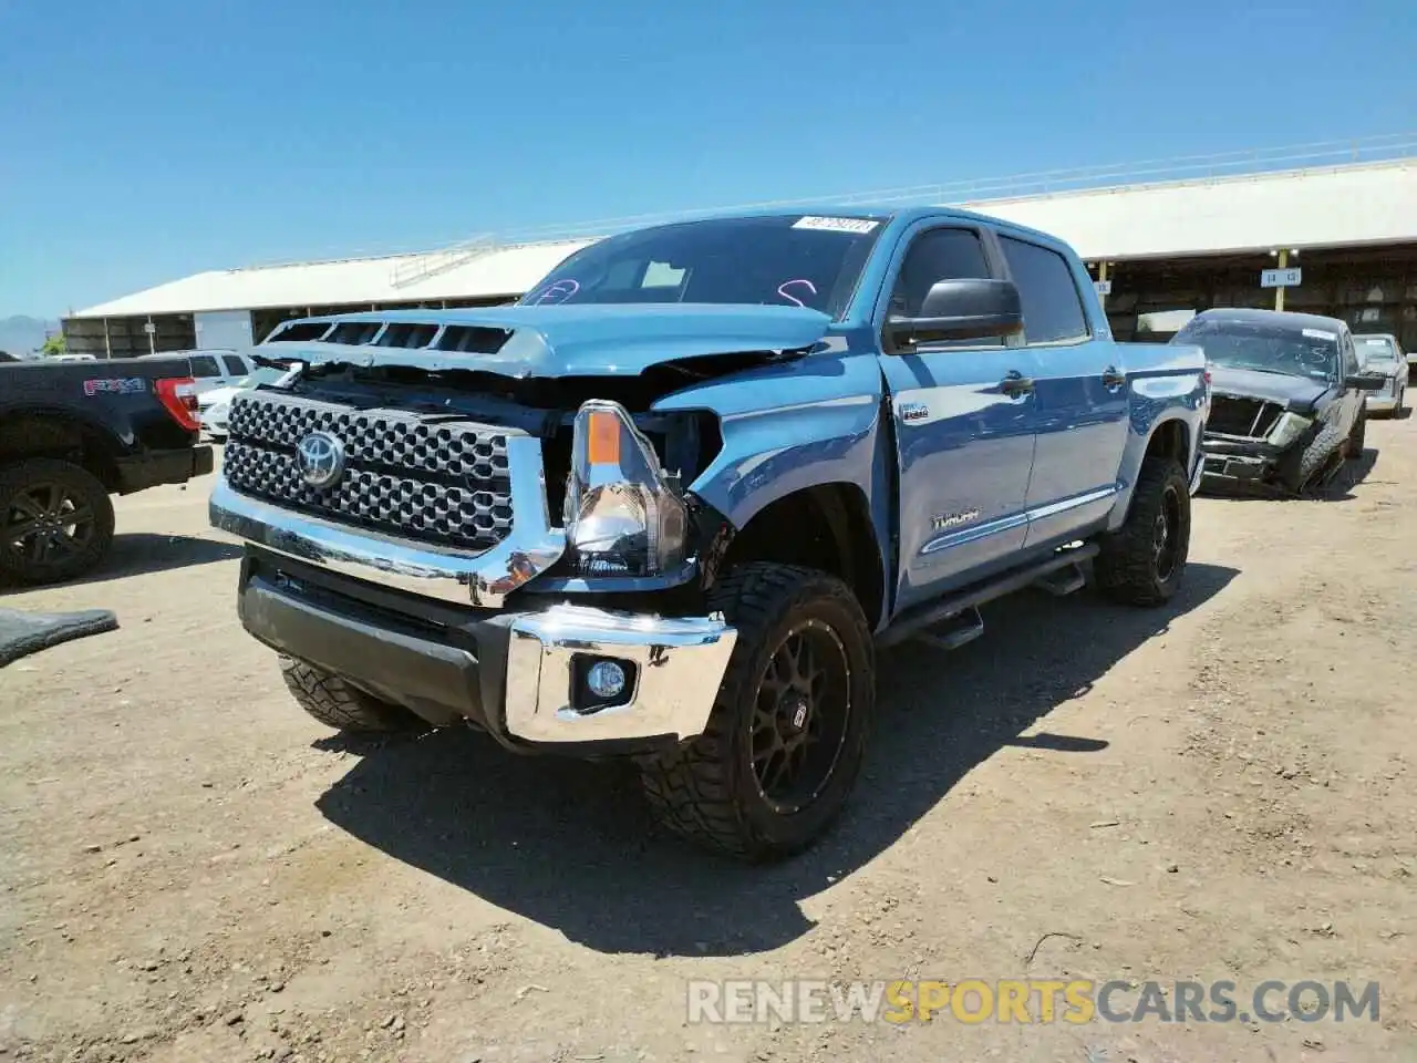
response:
<path id="1" fill-rule="evenodd" d="M 516 757 L 461 730 L 347 746 L 364 755 L 317 805 L 390 856 L 598 951 L 777 948 L 813 927 L 802 900 L 879 856 L 999 748 L 1105 748 L 1087 736 L 1020 736 L 1234 575 L 1193 563 L 1183 592 L 1161 609 L 1090 592 L 1017 594 L 989 607 L 983 638 L 954 653 L 883 653 L 877 724 L 852 804 L 786 863 L 743 867 L 666 838 L 629 765 Z"/>

